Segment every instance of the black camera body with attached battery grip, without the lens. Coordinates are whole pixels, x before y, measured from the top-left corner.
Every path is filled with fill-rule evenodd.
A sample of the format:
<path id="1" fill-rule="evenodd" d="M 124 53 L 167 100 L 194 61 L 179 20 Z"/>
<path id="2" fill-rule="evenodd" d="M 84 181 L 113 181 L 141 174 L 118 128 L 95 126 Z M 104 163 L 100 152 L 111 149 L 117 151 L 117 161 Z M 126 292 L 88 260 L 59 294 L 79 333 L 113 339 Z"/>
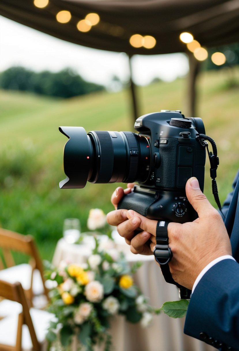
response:
<path id="1" fill-rule="evenodd" d="M 205 133 L 202 119 L 185 119 L 180 111 L 165 110 L 139 117 L 134 127 L 149 143 L 148 177 L 118 208 L 133 209 L 150 219 L 193 220 L 197 214 L 186 198 L 185 184 L 196 177 L 203 191 L 206 152 L 196 139 Z"/>

